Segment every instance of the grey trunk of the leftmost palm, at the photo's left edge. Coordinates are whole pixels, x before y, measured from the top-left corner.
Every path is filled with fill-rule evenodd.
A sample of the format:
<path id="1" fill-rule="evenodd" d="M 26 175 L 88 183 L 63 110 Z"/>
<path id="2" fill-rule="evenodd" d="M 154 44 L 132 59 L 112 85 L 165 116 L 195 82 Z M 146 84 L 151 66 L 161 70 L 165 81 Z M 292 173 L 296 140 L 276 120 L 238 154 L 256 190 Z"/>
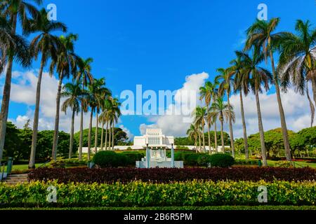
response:
<path id="1" fill-rule="evenodd" d="M 12 34 L 15 34 L 17 15 L 13 15 Z M 4 94 L 2 95 L 1 113 L 0 113 L 0 162 L 4 153 L 4 141 L 6 139 L 6 122 L 8 120 L 8 107 L 10 103 L 11 80 L 12 80 L 13 55 L 9 55 L 8 64 L 6 64 L 6 80 L 4 81 Z"/>

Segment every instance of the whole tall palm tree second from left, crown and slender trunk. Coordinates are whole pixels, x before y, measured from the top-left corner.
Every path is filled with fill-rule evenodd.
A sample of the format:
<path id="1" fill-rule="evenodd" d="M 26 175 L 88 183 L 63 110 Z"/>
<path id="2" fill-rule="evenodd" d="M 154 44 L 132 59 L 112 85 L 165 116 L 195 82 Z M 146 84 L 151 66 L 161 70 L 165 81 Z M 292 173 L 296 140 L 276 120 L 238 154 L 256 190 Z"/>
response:
<path id="1" fill-rule="evenodd" d="M 58 48 L 60 48 L 60 41 L 57 36 L 51 34 L 53 31 L 67 31 L 67 27 L 61 22 L 53 22 L 47 19 L 47 12 L 42 9 L 37 18 L 29 22 L 27 27 L 27 34 L 39 32 L 39 35 L 35 36 L 30 44 L 30 51 L 35 59 L 39 57 L 41 53 L 41 66 L 39 68 L 39 77 L 37 79 L 37 94 L 33 120 L 33 134 L 32 134 L 32 146 L 31 155 L 29 158 L 29 168 L 34 168 L 35 165 L 35 153 L 37 147 L 37 132 L 39 128 L 39 102 L 41 97 L 41 77 L 43 75 L 44 66 L 46 66 L 47 60 L 51 57 L 53 60 L 57 59 Z"/>

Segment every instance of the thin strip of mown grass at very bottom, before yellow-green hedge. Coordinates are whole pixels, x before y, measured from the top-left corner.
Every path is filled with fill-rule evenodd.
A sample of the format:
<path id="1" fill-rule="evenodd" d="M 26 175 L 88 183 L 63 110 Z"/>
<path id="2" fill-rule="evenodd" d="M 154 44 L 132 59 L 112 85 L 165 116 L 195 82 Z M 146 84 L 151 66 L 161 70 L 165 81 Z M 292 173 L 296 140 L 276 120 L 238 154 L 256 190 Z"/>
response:
<path id="1" fill-rule="evenodd" d="M 73 207 L 73 208 L 0 208 L 1 210 L 316 210 L 315 206 L 214 206 L 214 207 Z"/>

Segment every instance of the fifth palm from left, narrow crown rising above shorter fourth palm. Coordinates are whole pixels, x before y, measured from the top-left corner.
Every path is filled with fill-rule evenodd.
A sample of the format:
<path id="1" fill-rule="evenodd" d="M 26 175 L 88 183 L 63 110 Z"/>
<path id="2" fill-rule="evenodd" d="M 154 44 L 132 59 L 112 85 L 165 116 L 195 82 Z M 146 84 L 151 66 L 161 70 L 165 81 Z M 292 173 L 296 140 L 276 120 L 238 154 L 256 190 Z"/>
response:
<path id="1" fill-rule="evenodd" d="M 88 57 L 87 59 L 78 58 L 77 59 L 77 80 L 81 80 L 81 91 L 84 92 L 84 88 L 93 83 L 93 76 L 91 74 L 91 63 L 93 59 Z M 85 102 L 81 102 L 81 108 L 84 108 Z M 82 159 L 82 141 L 84 138 L 84 110 L 80 113 L 80 135 L 79 135 L 79 160 Z"/>

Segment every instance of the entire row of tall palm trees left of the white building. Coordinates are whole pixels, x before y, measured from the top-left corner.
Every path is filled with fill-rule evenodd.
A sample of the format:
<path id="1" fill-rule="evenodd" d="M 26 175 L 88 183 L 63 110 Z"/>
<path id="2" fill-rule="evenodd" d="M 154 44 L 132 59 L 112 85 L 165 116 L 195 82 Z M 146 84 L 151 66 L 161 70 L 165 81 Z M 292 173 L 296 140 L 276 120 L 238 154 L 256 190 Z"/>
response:
<path id="1" fill-rule="evenodd" d="M 67 32 L 67 26 L 62 22 L 50 21 L 47 19 L 45 9 L 38 10 L 36 5 L 41 5 L 41 0 L 4 0 L 0 3 L 0 72 L 6 71 L 4 94 L 2 97 L 0 113 L 0 161 L 2 160 L 4 141 L 6 135 L 6 122 L 8 119 L 8 106 L 10 102 L 11 78 L 13 61 L 22 67 L 32 65 L 32 60 L 40 61 L 40 68 L 37 80 L 36 103 L 34 109 L 32 149 L 29 159 L 29 168 L 34 167 L 37 147 L 37 132 L 39 126 L 39 105 L 41 100 L 41 79 L 46 66 L 49 66 L 49 73 L 53 76 L 58 74 L 58 92 L 56 95 L 55 129 L 53 136 L 52 158 L 56 160 L 58 154 L 58 132 L 60 120 L 60 100 L 67 97 L 62 104 L 62 111 L 66 113 L 70 108 L 72 111 L 72 127 L 70 137 L 70 153 L 72 157 L 74 139 L 74 116 L 81 112 L 80 137 L 79 137 L 79 159 L 82 158 L 83 123 L 84 113 L 90 109 L 90 125 L 88 137 L 88 159 L 91 152 L 91 130 L 93 114 L 96 113 L 96 136 L 98 122 L 107 126 L 110 125 L 110 139 L 107 147 L 105 138 L 105 149 L 114 146 L 114 123 L 120 116 L 118 99 L 114 99 L 110 90 L 105 87 L 103 78 L 93 78 L 91 74 L 91 63 L 93 59 L 79 57 L 75 50 L 77 34 L 56 36 L 54 33 Z M 22 34 L 16 34 L 17 26 L 20 23 Z M 29 34 L 35 34 L 30 43 L 26 40 Z M 5 69 L 6 68 L 6 69 Z M 71 79 L 72 83 L 62 86 L 65 79 Z M 101 113 L 100 118 L 98 114 Z M 111 139 L 112 133 L 112 139 Z M 102 143 L 103 144 L 103 143 Z M 104 148 L 101 146 L 101 148 Z M 95 151 L 97 150 L 97 138 Z"/>

